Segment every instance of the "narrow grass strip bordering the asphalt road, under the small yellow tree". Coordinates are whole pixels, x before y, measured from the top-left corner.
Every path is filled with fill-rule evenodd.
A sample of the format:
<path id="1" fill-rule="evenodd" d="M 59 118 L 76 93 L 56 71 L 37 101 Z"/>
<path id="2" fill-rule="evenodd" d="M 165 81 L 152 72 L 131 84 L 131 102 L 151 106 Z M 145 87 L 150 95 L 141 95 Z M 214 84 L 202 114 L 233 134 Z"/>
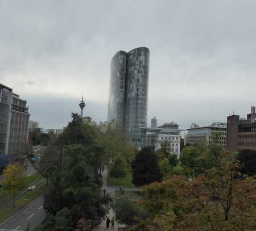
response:
<path id="1" fill-rule="evenodd" d="M 19 209 L 26 206 L 32 200 L 38 198 L 38 196 L 42 195 L 45 188 L 46 188 L 46 185 L 43 184 L 42 186 L 35 188 L 35 190 L 28 192 L 28 194 L 24 195 L 19 200 L 16 200 L 15 208 L 13 208 L 12 205 L 10 205 L 9 208 L 2 209 L 2 211 L 0 211 L 0 223 L 5 221 L 7 218 L 9 218 L 11 215 L 13 215 Z"/>

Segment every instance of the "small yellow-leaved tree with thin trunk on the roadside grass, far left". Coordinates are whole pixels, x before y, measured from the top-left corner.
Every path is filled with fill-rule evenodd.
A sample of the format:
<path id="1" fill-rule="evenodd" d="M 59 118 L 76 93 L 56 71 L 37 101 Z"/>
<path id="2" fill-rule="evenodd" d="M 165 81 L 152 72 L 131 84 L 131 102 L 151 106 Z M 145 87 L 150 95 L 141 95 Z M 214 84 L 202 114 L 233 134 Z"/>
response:
<path id="1" fill-rule="evenodd" d="M 13 207 L 15 207 L 15 194 L 26 186 L 26 175 L 23 173 L 22 167 L 18 163 L 7 166 L 3 172 L 2 186 L 13 194 Z"/>

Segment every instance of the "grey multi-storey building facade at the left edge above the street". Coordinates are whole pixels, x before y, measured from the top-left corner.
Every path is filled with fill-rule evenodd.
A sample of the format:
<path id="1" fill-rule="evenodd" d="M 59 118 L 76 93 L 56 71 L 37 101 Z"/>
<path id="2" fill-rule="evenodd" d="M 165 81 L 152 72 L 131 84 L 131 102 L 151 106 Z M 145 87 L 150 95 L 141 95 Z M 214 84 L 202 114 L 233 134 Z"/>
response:
<path id="1" fill-rule="evenodd" d="M 26 103 L 0 83 L 0 154 L 13 154 L 20 145 L 27 144 L 30 114 Z"/>

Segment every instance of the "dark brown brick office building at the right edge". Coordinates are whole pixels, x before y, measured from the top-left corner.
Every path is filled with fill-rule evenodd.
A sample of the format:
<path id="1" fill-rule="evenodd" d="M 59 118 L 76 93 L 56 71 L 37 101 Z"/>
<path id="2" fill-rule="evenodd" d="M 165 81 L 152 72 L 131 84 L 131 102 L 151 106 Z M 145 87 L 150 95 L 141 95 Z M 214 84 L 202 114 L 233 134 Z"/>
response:
<path id="1" fill-rule="evenodd" d="M 227 118 L 228 136 L 227 146 L 230 152 L 242 149 L 256 150 L 256 114 L 255 107 L 251 107 L 251 113 L 247 118 L 239 115 L 231 115 Z"/>

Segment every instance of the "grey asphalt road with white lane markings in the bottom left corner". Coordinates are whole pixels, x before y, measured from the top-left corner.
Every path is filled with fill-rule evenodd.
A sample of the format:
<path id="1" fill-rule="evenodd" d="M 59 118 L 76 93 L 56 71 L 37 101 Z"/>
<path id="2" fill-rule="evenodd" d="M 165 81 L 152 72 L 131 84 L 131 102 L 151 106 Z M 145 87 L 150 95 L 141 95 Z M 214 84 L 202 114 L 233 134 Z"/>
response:
<path id="1" fill-rule="evenodd" d="M 0 229 L 13 230 L 20 226 L 18 230 L 26 230 L 28 225 L 28 217 L 31 217 L 29 219 L 30 230 L 32 228 L 35 228 L 35 226 L 39 225 L 46 217 L 46 214 L 44 213 L 43 203 L 43 197 L 34 201 L 34 203 L 30 204 L 27 208 L 15 213 L 15 215 L 10 220 L 6 221 L 0 226 Z"/>

